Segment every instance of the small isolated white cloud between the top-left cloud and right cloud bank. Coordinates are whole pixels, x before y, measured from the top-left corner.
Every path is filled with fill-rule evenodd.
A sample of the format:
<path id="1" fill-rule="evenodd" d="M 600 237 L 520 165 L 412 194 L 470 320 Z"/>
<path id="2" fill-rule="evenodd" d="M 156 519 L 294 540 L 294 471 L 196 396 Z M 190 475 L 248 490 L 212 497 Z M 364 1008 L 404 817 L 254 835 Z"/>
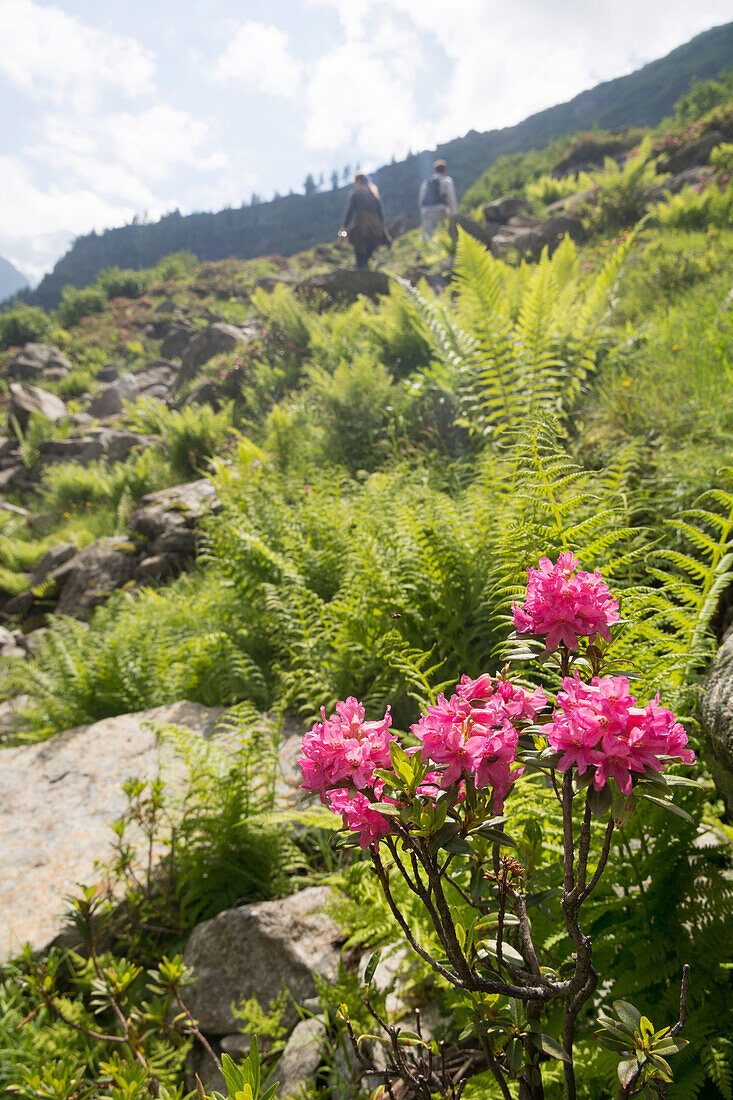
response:
<path id="1" fill-rule="evenodd" d="M 217 80 L 242 80 L 271 96 L 296 96 L 300 70 L 287 35 L 266 23 L 242 23 L 214 67 Z"/>

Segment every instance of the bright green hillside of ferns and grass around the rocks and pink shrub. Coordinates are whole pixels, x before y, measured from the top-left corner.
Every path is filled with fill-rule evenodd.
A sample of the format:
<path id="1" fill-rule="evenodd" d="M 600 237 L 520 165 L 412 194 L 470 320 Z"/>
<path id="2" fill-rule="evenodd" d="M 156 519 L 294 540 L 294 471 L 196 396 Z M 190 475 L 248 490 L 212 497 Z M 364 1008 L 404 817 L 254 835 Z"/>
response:
<path id="1" fill-rule="evenodd" d="M 663 136 L 681 143 L 690 124 L 686 118 Z M 57 592 L 36 585 L 33 618 L 21 610 L 7 620 L 47 632 L 30 657 L 8 660 L 0 686 L 6 698 L 28 696 L 17 703 L 21 740 L 187 698 L 236 708 L 230 719 L 243 746 L 225 771 L 201 756 L 183 817 L 172 801 L 164 818 L 156 800 L 165 795 L 153 788 L 131 791 L 128 823 L 152 827 L 166 859 L 147 886 L 133 880 L 123 855 L 118 860 L 125 906 L 107 916 L 101 977 L 61 950 L 47 969 L 29 956 L 0 970 L 0 1087 L 101 1100 L 127 1057 L 125 1072 L 136 1076 L 116 1096 L 195 1094 L 182 1068 L 192 1036 L 169 1025 L 160 1001 L 150 1008 L 142 970 L 179 950 L 196 921 L 232 904 L 329 882 L 341 891 L 349 947 L 394 943 L 400 932 L 360 849 L 332 845 L 322 818 L 296 825 L 258 802 L 262 776 L 274 783 L 274 765 L 252 732 L 263 712 L 310 723 L 348 695 L 370 717 L 390 703 L 407 732 L 441 685 L 502 668 L 526 569 L 572 551 L 620 598 L 615 667 L 633 674 L 639 700 L 659 692 L 683 717 L 701 784 L 679 796 L 692 821 L 644 803 L 614 834 L 606 884 L 591 906 L 601 981 L 579 1020 L 578 1096 L 606 1100 L 619 1089 L 617 1058 L 593 1034 L 600 1007 L 627 999 L 656 1027 L 672 1023 L 686 963 L 689 1046 L 670 1059 L 666 1094 L 730 1096 L 731 829 L 711 782 L 697 693 L 730 623 L 733 582 L 733 145 L 718 145 L 697 184 L 655 195 L 655 139 L 663 140 L 648 134 L 625 165 L 577 182 L 591 191 L 578 211 L 587 240 L 565 238 L 538 262 L 496 258 L 464 234 L 456 245 L 447 234 L 426 244 L 413 232 L 382 256 L 394 275 L 389 294 L 344 302 L 308 285 L 339 262 L 335 246 L 203 264 L 178 254 L 69 288 L 53 315 L 30 307 L 4 315 L 3 385 L 17 351 L 11 337 L 37 338 L 45 326 L 43 338 L 72 365 L 45 386 L 72 416 L 101 392 L 110 362 L 150 370 L 172 327 L 188 326 L 190 339 L 212 322 L 240 327 L 237 348 L 188 373 L 186 352 L 172 353 L 177 382 L 166 403 L 140 399 L 118 413 L 112 427 L 140 439 L 123 461 L 39 465 L 44 442 L 90 425 L 30 422 L 21 457 L 37 477 L 7 494 L 28 514 L 0 512 L 8 597 L 26 591 L 41 556 L 61 543 L 121 536 L 134 552 L 130 520 L 146 493 L 207 477 L 221 508 L 204 520 L 189 569 L 125 583 L 88 626 L 54 615 Z M 494 169 L 501 179 L 505 167 Z M 558 180 L 536 169 L 532 158 L 513 166 L 517 188 L 539 210 Z M 482 195 L 493 187 L 490 172 Z M 431 289 L 447 271 L 449 287 Z M 8 435 L 14 430 L 9 422 Z M 528 676 L 550 695 L 560 685 L 551 662 Z M 505 827 L 519 838 L 527 894 L 540 899 L 533 932 L 541 966 L 562 974 L 575 945 L 547 889 L 562 843 L 549 813 L 555 793 L 529 776 L 517 792 Z M 593 864 L 600 854 L 594 833 Z M 419 937 L 428 935 L 416 909 L 407 912 Z M 141 971 L 120 978 L 132 965 Z M 153 977 L 160 993 L 165 982 Z M 449 1053 L 464 1052 L 466 1014 L 445 975 L 409 955 L 398 986 L 409 1013 L 438 1005 L 439 1036 Z M 154 1079 L 124 1055 L 133 1047 L 110 1011 L 112 987 L 144 1021 L 136 1049 Z M 339 1005 L 359 1022 L 362 992 L 347 952 L 338 979 L 319 988 L 327 1053 L 309 1100 L 346 1094 Z M 491 999 L 483 1008 L 489 1021 L 504 1011 Z M 277 1005 L 242 1012 L 244 1030 L 273 1042 L 271 1062 L 282 1015 Z M 492 1035 L 493 1056 L 506 1060 L 515 1024 L 508 1018 Z M 546 1097 L 561 1100 L 559 1064 L 544 1068 Z M 471 1071 L 464 1096 L 502 1094 L 485 1058 Z M 348 1087 L 355 1097 L 371 1088 Z"/>

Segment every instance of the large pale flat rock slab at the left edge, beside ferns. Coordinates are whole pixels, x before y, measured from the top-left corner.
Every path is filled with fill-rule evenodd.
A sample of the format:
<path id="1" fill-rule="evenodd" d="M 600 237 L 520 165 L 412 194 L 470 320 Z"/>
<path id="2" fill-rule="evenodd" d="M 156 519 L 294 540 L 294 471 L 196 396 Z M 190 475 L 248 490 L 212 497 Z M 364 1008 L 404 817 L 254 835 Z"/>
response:
<path id="1" fill-rule="evenodd" d="M 122 783 L 152 779 L 165 762 L 155 726 L 185 726 L 208 738 L 221 714 L 220 707 L 173 703 L 2 749 L 1 959 L 23 943 L 45 947 L 64 926 L 64 898 L 74 883 L 99 881 L 95 862 L 110 858 L 110 826 L 127 805 Z"/>

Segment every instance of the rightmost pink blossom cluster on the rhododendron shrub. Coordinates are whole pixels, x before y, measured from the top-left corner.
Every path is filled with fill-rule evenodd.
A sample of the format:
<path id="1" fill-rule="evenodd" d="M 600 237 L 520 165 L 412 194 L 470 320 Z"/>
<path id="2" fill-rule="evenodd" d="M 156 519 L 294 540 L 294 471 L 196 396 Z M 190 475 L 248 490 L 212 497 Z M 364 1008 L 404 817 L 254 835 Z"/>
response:
<path id="1" fill-rule="evenodd" d="M 590 684 L 568 676 L 562 689 L 545 727 L 550 748 L 562 754 L 558 771 L 575 766 L 582 776 L 594 768 L 597 791 L 613 779 L 630 794 L 632 772 L 663 771 L 670 759 L 694 762 L 692 749 L 685 748 L 685 729 L 671 711 L 659 706 L 658 694 L 647 706 L 637 706 L 625 676 L 595 676 Z"/>

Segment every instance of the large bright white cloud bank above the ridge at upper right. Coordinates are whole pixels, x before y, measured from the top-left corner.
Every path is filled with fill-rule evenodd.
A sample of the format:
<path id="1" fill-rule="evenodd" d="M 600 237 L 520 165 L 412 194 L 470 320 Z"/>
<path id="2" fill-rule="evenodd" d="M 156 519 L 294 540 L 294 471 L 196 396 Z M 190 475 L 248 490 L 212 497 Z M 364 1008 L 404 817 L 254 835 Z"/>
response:
<path id="1" fill-rule="evenodd" d="M 307 90 L 309 119 L 306 133 L 311 145 L 330 147 L 325 135 L 329 120 L 343 133 L 342 97 L 350 100 L 348 64 L 362 80 L 362 101 L 351 105 L 361 140 L 384 140 L 378 157 L 390 152 L 433 146 L 466 133 L 512 125 L 535 111 L 571 99 L 601 80 L 622 76 L 646 61 L 663 56 L 714 23 L 730 19 L 730 0 L 309 0 L 338 15 L 342 43 L 316 62 Z M 417 54 L 409 36 L 393 41 L 390 74 L 380 69 L 384 20 L 407 21 L 419 41 Z M 400 24 L 404 26 L 404 22 Z M 428 45 L 442 52 L 447 73 L 434 109 L 411 103 L 416 69 Z M 643 56 L 639 51 L 643 50 Z M 359 58 L 372 57 L 370 66 Z M 329 79 L 330 74 L 330 79 Z M 385 92 L 389 89 L 389 92 Z M 384 101 L 390 100 L 385 111 Z M 413 127 L 394 141 L 393 119 Z M 362 155 L 370 155 L 360 147 Z"/>

